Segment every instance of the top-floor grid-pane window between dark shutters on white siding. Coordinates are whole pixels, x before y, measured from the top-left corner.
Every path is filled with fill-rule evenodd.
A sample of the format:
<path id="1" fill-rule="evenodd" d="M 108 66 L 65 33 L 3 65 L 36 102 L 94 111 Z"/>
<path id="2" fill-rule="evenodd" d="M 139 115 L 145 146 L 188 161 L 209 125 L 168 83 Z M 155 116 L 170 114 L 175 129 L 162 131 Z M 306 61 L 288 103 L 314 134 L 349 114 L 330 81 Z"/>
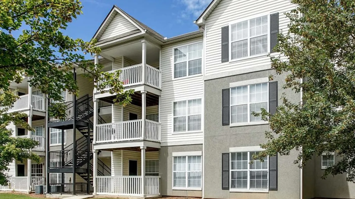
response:
<path id="1" fill-rule="evenodd" d="M 231 24 L 230 29 L 231 59 L 268 52 L 267 15 Z"/>

